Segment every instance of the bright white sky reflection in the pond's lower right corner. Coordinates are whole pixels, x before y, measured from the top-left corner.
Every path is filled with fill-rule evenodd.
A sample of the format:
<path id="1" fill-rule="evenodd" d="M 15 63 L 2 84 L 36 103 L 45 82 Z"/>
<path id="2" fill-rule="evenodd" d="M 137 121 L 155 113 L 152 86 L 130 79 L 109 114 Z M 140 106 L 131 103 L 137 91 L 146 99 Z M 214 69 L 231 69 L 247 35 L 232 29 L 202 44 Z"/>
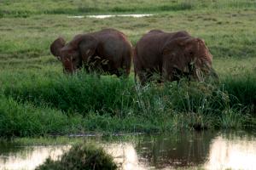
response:
<path id="1" fill-rule="evenodd" d="M 256 140 L 244 138 L 212 140 L 207 169 L 256 169 Z"/>

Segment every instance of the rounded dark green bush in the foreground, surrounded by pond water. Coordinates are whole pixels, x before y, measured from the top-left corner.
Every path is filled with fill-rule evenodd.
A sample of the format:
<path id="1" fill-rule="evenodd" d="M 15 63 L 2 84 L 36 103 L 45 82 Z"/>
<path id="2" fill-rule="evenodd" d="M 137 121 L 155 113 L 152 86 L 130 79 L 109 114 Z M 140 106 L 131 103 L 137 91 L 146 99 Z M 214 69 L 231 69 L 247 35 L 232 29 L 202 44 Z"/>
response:
<path id="1" fill-rule="evenodd" d="M 37 170 L 49 169 L 95 169 L 114 170 L 117 165 L 113 162 L 113 157 L 109 156 L 102 148 L 94 144 L 76 144 L 67 153 L 61 156 L 58 161 L 48 158 Z"/>

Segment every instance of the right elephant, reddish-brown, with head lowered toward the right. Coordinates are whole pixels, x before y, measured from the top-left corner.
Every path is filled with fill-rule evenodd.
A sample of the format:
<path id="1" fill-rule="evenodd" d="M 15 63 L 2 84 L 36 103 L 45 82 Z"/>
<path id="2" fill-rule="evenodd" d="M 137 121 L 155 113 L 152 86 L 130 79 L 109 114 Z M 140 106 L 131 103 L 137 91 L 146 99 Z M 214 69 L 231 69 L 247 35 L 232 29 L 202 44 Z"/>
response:
<path id="1" fill-rule="evenodd" d="M 205 42 L 191 37 L 187 31 L 165 32 L 152 30 L 137 42 L 134 52 L 135 81 L 142 84 L 179 81 L 182 77 L 203 81 L 204 75 L 218 79 L 212 68 L 212 54 Z M 160 78 L 154 78 L 154 73 Z"/>

